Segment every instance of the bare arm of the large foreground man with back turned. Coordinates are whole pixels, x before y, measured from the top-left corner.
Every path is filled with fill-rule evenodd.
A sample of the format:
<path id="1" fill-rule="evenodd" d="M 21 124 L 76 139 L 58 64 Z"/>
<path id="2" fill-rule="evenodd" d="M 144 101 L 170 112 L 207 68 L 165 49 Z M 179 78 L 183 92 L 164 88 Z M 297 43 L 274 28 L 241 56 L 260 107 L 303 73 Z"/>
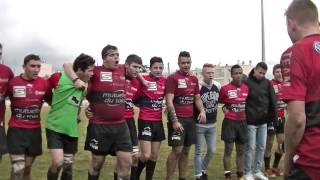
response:
<path id="1" fill-rule="evenodd" d="M 284 128 L 284 145 L 286 152 L 284 157 L 285 175 L 288 175 L 292 167 L 293 156 L 302 139 L 305 124 L 305 102 L 297 100 L 288 102 L 288 120 Z"/>

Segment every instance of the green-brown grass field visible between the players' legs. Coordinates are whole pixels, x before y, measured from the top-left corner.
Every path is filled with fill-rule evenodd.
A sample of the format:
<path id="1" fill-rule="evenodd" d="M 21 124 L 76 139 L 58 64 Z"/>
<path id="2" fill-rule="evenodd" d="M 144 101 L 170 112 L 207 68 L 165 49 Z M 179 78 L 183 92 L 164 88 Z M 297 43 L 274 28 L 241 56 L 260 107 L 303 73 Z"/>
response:
<path id="1" fill-rule="evenodd" d="M 47 113 L 49 111 L 49 108 L 43 108 L 41 112 L 42 117 L 42 123 L 46 121 Z M 6 119 L 8 120 L 10 116 L 10 112 L 6 113 Z M 84 140 L 86 135 L 86 126 L 87 126 L 87 119 L 85 118 L 84 114 L 82 113 L 82 121 L 79 124 L 80 127 L 80 138 L 79 138 L 79 151 L 76 154 L 74 166 L 73 166 L 73 179 L 74 180 L 85 180 L 87 179 L 87 172 L 88 172 L 88 165 L 89 165 L 89 159 L 90 154 L 87 151 L 83 150 L 84 147 Z M 222 165 L 222 157 L 223 157 L 223 150 L 224 145 L 221 139 L 221 121 L 223 119 L 222 112 L 218 112 L 218 123 L 217 123 L 217 148 L 216 153 L 214 155 L 213 160 L 211 161 L 210 168 L 208 170 L 208 175 L 210 180 L 215 179 L 224 179 L 223 175 L 223 165 Z M 166 128 L 166 123 L 164 121 L 164 125 Z M 47 144 L 46 144 L 46 137 L 44 130 L 42 131 L 42 140 L 43 140 L 43 155 L 39 156 L 32 169 L 32 179 L 33 180 L 45 180 L 47 170 L 49 167 L 49 163 L 51 161 L 51 158 L 48 153 Z M 168 147 L 167 141 L 163 141 L 161 144 L 160 154 L 157 161 L 157 166 L 154 174 L 154 179 L 165 179 L 166 175 L 166 159 L 168 156 L 168 153 L 170 152 L 171 148 Z M 188 165 L 188 176 L 187 179 L 195 179 L 193 174 L 193 153 L 194 147 L 192 147 L 192 151 L 189 156 L 189 165 Z M 235 152 L 234 152 L 235 153 Z M 234 153 L 233 153 L 233 162 L 234 162 Z M 103 169 L 101 170 L 101 176 L 100 179 L 102 180 L 109 180 L 113 179 L 113 161 L 114 159 L 110 156 L 108 156 L 106 163 L 104 164 Z M 2 162 L 0 163 L 0 180 L 8 180 L 10 175 L 10 160 L 9 156 L 5 155 L 3 157 Z M 233 163 L 232 171 L 235 172 L 235 163 Z M 177 172 L 177 170 L 176 170 Z M 144 173 L 141 175 L 140 179 L 144 179 Z M 177 173 L 176 173 L 176 178 Z M 236 175 L 233 174 L 233 179 L 236 179 Z M 280 178 L 273 178 L 273 179 L 280 179 Z"/>

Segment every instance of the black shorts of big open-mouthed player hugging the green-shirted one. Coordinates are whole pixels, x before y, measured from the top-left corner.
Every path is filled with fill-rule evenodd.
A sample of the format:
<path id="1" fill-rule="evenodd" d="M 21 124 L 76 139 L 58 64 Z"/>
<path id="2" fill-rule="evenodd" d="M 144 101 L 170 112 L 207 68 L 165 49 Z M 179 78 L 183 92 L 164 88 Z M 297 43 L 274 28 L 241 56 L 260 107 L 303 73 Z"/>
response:
<path id="1" fill-rule="evenodd" d="M 96 155 L 115 155 L 117 151 L 132 151 L 129 128 L 120 124 L 90 124 L 87 127 L 85 150 Z"/>

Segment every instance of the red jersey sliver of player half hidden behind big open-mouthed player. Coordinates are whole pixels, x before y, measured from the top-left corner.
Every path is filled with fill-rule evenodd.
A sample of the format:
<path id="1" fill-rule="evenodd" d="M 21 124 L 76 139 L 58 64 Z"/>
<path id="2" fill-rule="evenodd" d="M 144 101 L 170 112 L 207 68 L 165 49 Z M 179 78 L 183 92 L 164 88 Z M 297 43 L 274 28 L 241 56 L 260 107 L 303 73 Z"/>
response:
<path id="1" fill-rule="evenodd" d="M 126 119 L 132 118 L 134 115 L 133 100 L 137 97 L 139 89 L 140 82 L 137 78 L 126 78 L 126 111 L 124 113 Z"/>

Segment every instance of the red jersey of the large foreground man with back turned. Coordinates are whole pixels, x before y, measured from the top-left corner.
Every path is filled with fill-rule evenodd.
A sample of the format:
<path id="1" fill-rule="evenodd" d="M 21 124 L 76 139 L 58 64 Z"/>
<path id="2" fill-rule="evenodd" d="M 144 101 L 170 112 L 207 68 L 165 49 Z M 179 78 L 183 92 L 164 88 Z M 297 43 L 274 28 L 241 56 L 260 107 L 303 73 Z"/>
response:
<path id="1" fill-rule="evenodd" d="M 294 162 L 312 179 L 320 179 L 320 35 L 311 35 L 281 56 L 283 98 L 305 102 L 306 129 L 296 149 Z"/>

